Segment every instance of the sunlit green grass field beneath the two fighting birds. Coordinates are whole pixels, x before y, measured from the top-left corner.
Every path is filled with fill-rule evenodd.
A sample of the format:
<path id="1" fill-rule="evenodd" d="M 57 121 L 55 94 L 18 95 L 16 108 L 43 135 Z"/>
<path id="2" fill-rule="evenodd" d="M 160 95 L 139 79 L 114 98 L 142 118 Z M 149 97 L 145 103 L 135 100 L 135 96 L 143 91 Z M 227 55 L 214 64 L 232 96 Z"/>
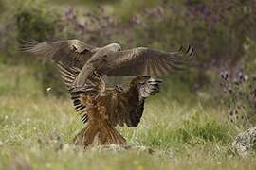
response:
<path id="1" fill-rule="evenodd" d="M 137 128 L 119 127 L 129 144 L 155 152 L 82 151 L 72 144 L 83 125 L 71 102 L 44 96 L 33 74 L 0 65 L 0 169 L 255 169 L 253 156 L 233 153 L 236 131 L 224 111 L 201 98 L 192 103 L 189 93 L 183 102 L 172 100 L 170 93 L 184 87 L 170 83 L 147 102 Z"/>

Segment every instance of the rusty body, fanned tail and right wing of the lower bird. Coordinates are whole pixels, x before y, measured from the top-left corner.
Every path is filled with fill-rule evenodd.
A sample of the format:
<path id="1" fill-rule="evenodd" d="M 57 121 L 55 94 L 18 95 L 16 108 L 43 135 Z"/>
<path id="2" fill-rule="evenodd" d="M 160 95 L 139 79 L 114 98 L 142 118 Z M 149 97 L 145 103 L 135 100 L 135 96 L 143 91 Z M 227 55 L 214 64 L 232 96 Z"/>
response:
<path id="1" fill-rule="evenodd" d="M 106 89 L 101 95 L 81 93 L 82 106 L 86 106 L 87 126 L 74 138 L 84 147 L 98 136 L 101 144 L 126 144 L 115 129 L 117 125 L 137 127 L 144 110 L 145 98 L 159 91 L 161 81 L 148 76 L 137 76 L 128 89 Z"/>

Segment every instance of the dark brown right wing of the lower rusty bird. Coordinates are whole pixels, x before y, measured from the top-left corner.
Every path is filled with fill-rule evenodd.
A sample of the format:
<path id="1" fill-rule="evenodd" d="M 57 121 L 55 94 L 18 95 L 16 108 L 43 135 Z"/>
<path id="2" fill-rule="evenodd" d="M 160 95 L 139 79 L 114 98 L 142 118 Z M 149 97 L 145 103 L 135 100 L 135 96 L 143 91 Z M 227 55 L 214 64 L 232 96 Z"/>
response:
<path id="1" fill-rule="evenodd" d="M 106 95 L 108 118 L 112 126 L 137 127 L 144 111 L 145 99 L 159 92 L 161 80 L 148 78 L 137 87 Z M 114 91 L 113 91 L 114 92 Z"/>

